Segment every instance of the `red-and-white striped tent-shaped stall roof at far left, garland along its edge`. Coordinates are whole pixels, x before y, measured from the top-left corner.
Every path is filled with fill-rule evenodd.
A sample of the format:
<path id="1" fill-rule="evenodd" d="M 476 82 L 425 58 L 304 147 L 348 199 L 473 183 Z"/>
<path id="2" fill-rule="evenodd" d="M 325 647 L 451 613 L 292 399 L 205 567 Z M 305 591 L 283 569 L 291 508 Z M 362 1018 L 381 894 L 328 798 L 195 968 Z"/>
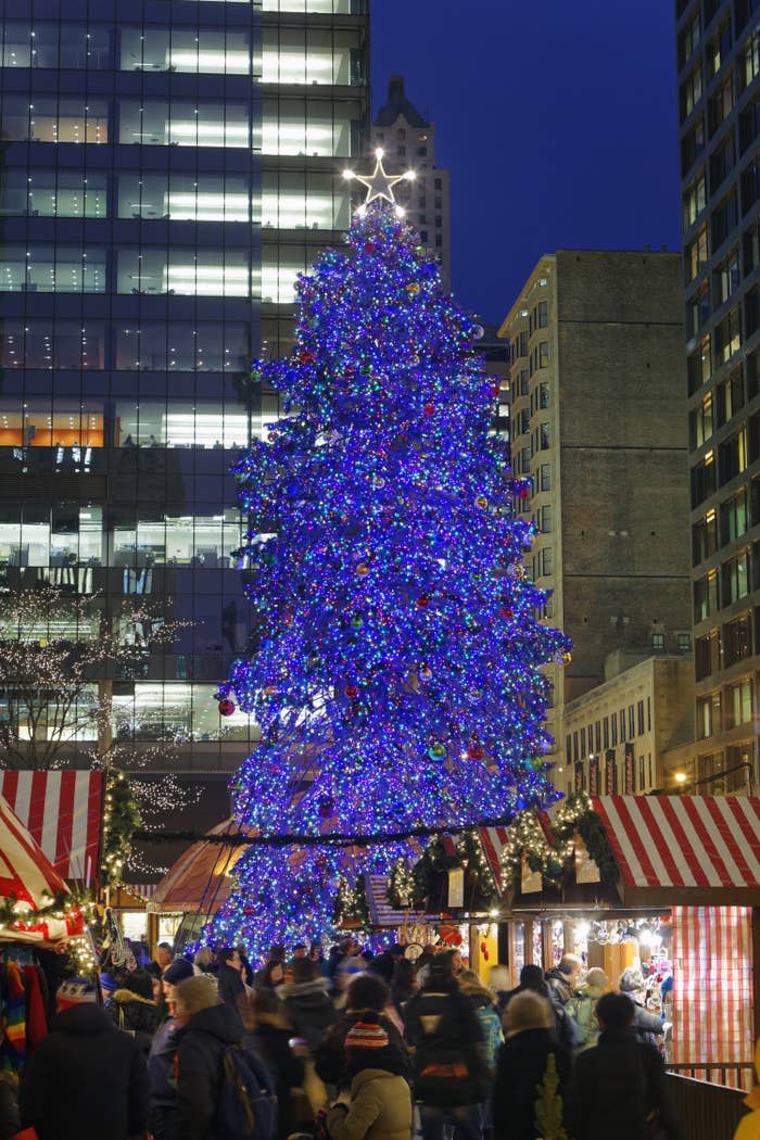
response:
<path id="1" fill-rule="evenodd" d="M 0 927 L 0 940 L 55 945 L 70 934 L 81 934 L 82 914 L 35 921 L 34 912 L 49 906 L 68 887 L 40 850 L 21 820 L 0 798 L 0 898 L 16 899 L 18 922 Z"/>

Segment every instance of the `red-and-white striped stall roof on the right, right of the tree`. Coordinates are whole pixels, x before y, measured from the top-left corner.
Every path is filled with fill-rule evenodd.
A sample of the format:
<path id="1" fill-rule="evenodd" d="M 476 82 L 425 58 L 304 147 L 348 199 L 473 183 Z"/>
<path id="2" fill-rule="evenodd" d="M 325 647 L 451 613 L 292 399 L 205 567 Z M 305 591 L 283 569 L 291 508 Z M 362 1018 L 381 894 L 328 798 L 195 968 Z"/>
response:
<path id="1" fill-rule="evenodd" d="M 595 796 L 624 886 L 760 887 L 760 799 Z"/>

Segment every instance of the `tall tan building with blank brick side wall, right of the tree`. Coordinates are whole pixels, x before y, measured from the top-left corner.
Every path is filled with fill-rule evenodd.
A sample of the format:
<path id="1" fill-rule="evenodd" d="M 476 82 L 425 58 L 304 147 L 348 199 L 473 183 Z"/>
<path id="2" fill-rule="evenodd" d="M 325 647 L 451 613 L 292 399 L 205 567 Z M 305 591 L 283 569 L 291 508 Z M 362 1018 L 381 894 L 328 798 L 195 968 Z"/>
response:
<path id="1" fill-rule="evenodd" d="M 505 318 L 512 463 L 532 492 L 529 572 L 574 649 L 549 667 L 557 783 L 573 784 L 564 707 L 629 663 L 690 649 L 680 264 L 675 253 L 559 250 Z"/>

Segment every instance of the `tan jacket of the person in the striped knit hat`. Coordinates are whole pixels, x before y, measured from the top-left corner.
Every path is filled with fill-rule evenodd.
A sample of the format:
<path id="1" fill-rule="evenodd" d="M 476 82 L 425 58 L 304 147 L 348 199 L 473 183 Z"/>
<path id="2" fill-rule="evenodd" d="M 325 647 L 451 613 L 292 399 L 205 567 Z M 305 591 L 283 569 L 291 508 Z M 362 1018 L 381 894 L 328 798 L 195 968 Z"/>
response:
<path id="1" fill-rule="evenodd" d="M 332 1140 L 409 1140 L 411 1094 L 402 1076 L 362 1069 L 351 1082 L 351 1104 L 327 1114 Z"/>

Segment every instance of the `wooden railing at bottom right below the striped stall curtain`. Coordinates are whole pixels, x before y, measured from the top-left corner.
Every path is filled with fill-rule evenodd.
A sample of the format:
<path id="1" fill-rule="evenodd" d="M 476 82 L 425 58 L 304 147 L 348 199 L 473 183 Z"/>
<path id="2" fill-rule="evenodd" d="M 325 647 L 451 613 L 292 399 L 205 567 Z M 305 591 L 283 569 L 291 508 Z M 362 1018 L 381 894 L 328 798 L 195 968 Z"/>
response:
<path id="1" fill-rule="evenodd" d="M 751 1064 L 668 1065 L 668 1083 L 684 1140 L 732 1140 L 754 1083 Z"/>

